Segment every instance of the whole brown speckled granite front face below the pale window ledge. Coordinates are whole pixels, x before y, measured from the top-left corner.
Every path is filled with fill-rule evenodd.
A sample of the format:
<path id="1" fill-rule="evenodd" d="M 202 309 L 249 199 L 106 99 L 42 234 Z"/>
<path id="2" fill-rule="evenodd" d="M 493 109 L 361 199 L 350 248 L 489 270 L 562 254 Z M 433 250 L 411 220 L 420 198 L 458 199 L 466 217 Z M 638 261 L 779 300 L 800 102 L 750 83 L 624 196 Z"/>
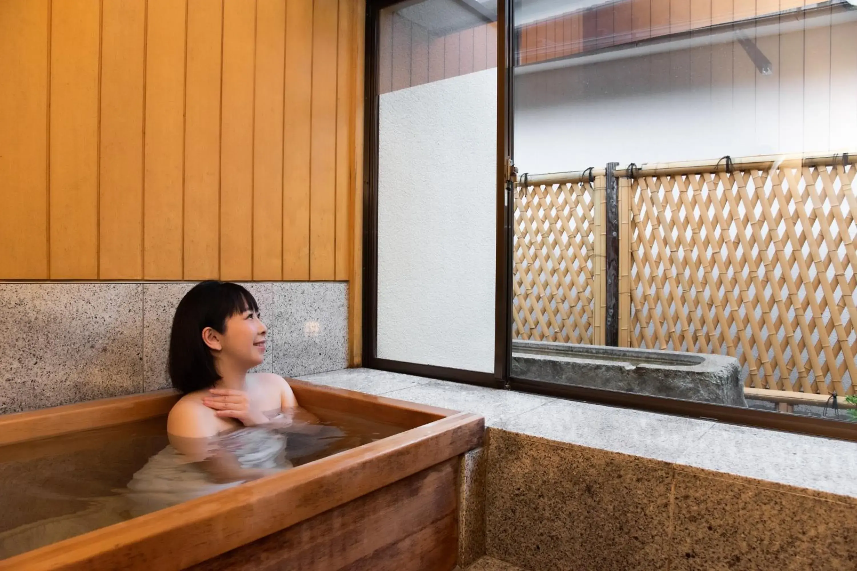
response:
<path id="1" fill-rule="evenodd" d="M 488 429 L 486 552 L 532 571 L 857 568 L 857 498 Z"/>

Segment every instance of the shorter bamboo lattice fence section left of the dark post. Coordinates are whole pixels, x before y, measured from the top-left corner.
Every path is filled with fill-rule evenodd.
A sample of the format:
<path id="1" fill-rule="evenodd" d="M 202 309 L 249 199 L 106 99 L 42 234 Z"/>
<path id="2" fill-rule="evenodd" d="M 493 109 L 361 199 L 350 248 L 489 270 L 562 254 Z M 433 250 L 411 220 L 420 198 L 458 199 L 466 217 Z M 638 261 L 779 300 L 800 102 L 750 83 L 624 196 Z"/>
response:
<path id="1" fill-rule="evenodd" d="M 532 176 L 515 196 L 512 336 L 603 342 L 604 173 Z M 596 304 L 596 301 L 598 302 Z"/>

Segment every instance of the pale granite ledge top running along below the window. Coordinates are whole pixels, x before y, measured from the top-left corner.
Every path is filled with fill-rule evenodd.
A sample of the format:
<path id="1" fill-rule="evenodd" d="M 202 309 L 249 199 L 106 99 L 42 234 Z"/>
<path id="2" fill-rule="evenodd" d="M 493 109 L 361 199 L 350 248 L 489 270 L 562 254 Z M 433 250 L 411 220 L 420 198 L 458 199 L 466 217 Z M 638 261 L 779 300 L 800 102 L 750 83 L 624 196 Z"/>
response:
<path id="1" fill-rule="evenodd" d="M 566 401 L 371 369 L 301 377 L 403 401 L 479 413 L 486 427 L 739 476 L 812 495 L 857 498 L 857 443 Z"/>

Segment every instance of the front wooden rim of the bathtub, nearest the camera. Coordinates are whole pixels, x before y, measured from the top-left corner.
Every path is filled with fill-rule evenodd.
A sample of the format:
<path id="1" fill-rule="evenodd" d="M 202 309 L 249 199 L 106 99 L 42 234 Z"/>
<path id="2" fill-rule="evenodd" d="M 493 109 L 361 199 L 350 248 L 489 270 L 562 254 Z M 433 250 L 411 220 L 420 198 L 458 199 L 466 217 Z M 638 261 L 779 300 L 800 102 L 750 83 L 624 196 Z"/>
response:
<path id="1" fill-rule="evenodd" d="M 293 526 L 482 443 L 484 419 L 428 425 L 0 560 L 0 571 L 187 568 Z"/>

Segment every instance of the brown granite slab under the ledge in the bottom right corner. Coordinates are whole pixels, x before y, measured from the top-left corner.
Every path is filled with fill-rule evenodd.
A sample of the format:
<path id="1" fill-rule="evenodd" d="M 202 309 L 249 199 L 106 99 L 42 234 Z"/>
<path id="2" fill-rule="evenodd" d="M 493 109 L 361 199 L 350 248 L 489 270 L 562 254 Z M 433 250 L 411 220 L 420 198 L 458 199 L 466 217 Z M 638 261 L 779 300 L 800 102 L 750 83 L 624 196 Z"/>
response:
<path id="1" fill-rule="evenodd" d="M 857 500 L 680 468 L 670 571 L 857 569 Z"/>

